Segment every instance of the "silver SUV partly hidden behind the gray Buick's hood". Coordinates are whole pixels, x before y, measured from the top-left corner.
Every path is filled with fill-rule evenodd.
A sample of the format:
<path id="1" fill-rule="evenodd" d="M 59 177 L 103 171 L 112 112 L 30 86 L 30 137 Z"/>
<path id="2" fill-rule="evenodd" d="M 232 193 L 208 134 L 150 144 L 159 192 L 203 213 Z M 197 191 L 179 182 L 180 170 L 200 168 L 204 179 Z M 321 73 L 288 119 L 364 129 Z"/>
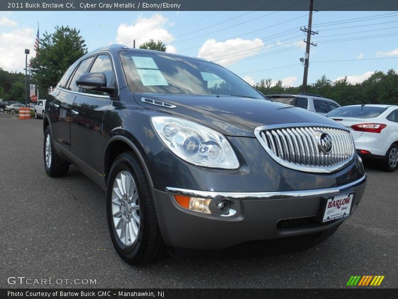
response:
<path id="1" fill-rule="evenodd" d="M 293 105 L 322 115 L 341 107 L 336 101 L 319 95 L 305 93 L 298 95 L 266 95 L 266 97 L 274 102 Z"/>

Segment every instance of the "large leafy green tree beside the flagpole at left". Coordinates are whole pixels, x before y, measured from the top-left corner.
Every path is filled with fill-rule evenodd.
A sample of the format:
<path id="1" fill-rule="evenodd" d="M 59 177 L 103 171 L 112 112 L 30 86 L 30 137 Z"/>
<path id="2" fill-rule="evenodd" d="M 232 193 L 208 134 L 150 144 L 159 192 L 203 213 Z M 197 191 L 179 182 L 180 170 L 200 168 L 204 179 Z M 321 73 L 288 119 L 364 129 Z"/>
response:
<path id="1" fill-rule="evenodd" d="M 55 26 L 54 33 L 43 34 L 36 57 L 30 59 L 33 80 L 40 90 L 55 86 L 68 67 L 87 53 L 80 30 Z"/>

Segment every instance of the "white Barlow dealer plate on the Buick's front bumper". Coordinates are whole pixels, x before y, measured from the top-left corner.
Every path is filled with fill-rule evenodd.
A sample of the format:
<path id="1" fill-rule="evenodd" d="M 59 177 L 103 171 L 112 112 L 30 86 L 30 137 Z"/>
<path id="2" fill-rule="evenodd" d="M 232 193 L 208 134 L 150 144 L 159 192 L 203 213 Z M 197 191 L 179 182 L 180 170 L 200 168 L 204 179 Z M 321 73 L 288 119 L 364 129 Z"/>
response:
<path id="1" fill-rule="evenodd" d="M 326 201 L 322 222 L 348 217 L 351 211 L 354 194 L 341 194 L 330 197 Z"/>

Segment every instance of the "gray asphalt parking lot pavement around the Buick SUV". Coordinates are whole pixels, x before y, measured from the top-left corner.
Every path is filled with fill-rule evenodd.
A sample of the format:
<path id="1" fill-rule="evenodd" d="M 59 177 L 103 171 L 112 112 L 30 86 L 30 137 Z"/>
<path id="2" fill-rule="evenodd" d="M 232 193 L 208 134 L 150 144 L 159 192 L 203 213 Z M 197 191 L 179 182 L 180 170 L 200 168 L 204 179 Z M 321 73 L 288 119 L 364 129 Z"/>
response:
<path id="1" fill-rule="evenodd" d="M 41 120 L 0 115 L 0 288 L 8 277 L 62 279 L 50 287 L 339 288 L 351 275 L 384 275 L 398 288 L 398 171 L 366 164 L 368 187 L 352 217 L 309 250 L 131 267 L 113 249 L 103 191 L 77 168 L 50 178 Z M 65 279 L 69 279 L 65 283 Z M 95 285 L 70 285 L 78 279 Z"/>

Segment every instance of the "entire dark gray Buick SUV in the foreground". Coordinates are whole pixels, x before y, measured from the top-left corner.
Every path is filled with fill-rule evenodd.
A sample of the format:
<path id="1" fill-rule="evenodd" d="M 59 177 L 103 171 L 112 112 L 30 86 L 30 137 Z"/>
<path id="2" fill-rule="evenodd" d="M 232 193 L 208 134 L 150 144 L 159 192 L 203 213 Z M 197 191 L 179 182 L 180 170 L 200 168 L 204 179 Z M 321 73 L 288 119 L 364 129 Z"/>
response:
<path id="1" fill-rule="evenodd" d="M 105 190 L 112 242 L 131 264 L 167 248 L 324 239 L 365 191 L 347 128 L 199 58 L 93 51 L 48 96 L 43 126 L 46 172 L 73 163 Z"/>

